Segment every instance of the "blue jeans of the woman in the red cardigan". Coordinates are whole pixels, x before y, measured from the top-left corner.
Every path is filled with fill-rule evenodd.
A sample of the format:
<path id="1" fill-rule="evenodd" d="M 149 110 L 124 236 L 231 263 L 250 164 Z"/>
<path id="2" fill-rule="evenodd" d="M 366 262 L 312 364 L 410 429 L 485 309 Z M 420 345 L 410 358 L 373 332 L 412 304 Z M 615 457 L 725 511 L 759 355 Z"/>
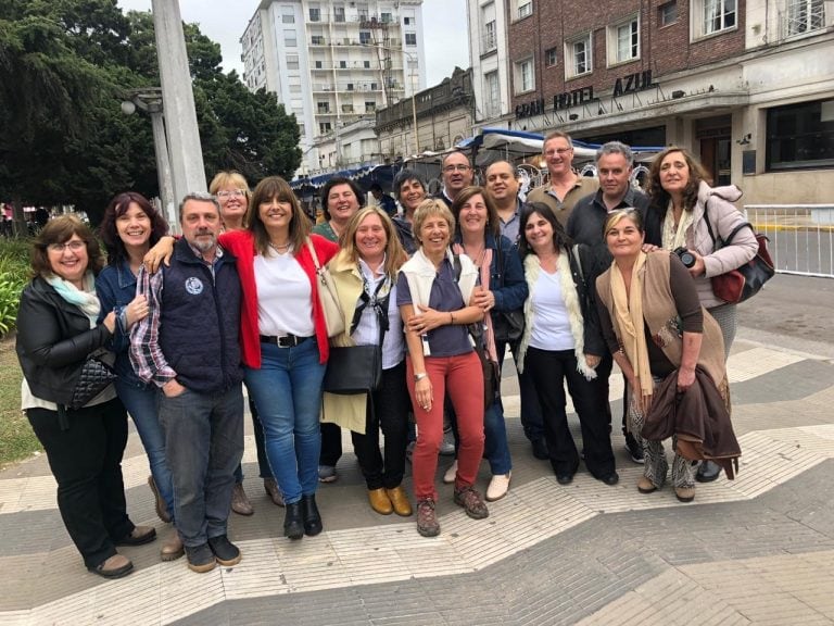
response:
<path id="1" fill-rule="evenodd" d="M 318 359 L 315 338 L 295 348 L 261 343 L 261 368 L 245 368 L 247 387 L 264 426 L 269 466 L 288 504 L 312 496 L 318 487 L 325 377 Z"/>

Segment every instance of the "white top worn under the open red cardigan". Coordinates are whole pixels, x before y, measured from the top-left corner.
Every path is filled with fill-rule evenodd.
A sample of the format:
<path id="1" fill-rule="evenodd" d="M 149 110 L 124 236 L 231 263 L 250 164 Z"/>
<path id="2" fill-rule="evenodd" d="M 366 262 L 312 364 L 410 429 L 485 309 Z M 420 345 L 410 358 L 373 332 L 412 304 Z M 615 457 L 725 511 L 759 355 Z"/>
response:
<path id="1" fill-rule="evenodd" d="M 257 327 L 261 335 L 312 337 L 313 300 L 309 278 L 291 251 L 255 255 Z"/>

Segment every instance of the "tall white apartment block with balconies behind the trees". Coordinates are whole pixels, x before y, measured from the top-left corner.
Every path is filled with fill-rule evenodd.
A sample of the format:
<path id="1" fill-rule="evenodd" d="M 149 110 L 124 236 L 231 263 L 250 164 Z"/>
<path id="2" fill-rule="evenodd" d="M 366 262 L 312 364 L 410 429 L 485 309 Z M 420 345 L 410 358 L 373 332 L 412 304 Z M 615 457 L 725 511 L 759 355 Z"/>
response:
<path id="1" fill-rule="evenodd" d="M 240 40 L 243 80 L 295 114 L 303 174 L 339 168 L 342 128 L 425 87 L 422 30 L 422 0 L 262 0 Z"/>

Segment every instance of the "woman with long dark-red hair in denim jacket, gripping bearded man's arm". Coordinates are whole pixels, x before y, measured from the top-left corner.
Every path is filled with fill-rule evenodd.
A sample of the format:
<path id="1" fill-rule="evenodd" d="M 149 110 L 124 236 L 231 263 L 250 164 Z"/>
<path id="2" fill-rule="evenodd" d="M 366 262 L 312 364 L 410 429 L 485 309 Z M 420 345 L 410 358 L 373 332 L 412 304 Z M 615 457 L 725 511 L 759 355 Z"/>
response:
<path id="1" fill-rule="evenodd" d="M 172 522 L 174 490 L 165 460 L 165 436 L 156 411 L 156 389 L 134 373 L 128 355 L 130 327 L 147 313 L 143 296 L 136 296 L 136 275 L 142 256 L 168 231 L 168 225 L 147 198 L 135 191 L 119 193 L 104 210 L 99 228 L 108 249 L 108 266 L 96 278 L 101 301 L 101 316 L 116 313 L 116 330 L 111 349 L 116 354 L 116 393 L 136 424 L 151 466 L 148 484 L 153 490 L 156 514 Z M 162 560 L 182 555 L 182 544 L 175 531 L 162 547 Z"/>

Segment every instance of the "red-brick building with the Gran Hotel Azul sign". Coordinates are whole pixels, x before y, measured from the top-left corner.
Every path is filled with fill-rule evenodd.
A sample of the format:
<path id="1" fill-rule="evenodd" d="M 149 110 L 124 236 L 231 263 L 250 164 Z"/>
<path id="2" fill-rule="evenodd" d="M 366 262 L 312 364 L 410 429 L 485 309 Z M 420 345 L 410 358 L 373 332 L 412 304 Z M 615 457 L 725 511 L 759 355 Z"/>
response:
<path id="1" fill-rule="evenodd" d="M 482 40 L 492 32 L 485 9 L 498 0 L 469 4 L 470 21 L 479 20 L 470 30 Z M 830 201 L 832 2 L 501 4 L 509 107 L 484 115 L 482 125 L 558 128 L 592 142 L 681 145 L 699 155 L 716 184 L 743 187 L 748 203 Z M 493 70 L 483 48 L 471 50 L 476 82 Z M 481 112 L 488 92 L 476 89 Z"/>

